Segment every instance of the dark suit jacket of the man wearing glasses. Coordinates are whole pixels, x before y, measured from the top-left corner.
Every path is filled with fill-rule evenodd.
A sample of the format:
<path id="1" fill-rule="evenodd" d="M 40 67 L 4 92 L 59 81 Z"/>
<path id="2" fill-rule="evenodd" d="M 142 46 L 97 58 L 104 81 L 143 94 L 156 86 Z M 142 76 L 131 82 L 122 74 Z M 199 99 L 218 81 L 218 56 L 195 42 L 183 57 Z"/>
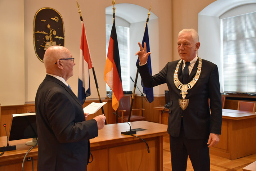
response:
<path id="1" fill-rule="evenodd" d="M 46 75 L 35 99 L 39 171 L 87 167 L 88 139 L 98 136 L 95 120 L 85 121 L 81 102 L 63 82 Z"/>

